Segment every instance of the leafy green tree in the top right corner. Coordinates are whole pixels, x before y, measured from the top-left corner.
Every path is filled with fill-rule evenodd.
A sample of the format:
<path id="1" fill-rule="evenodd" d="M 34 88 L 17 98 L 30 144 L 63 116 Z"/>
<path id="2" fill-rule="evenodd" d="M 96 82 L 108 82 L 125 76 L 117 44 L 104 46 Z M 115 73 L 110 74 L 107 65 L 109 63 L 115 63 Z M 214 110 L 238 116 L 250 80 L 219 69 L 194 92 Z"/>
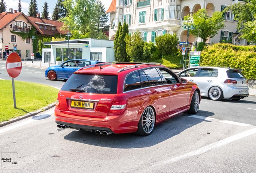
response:
<path id="1" fill-rule="evenodd" d="M 237 20 L 237 30 L 242 33 L 241 38 L 256 43 L 256 0 L 244 0 L 231 6 L 234 20 Z M 226 8 L 228 10 L 229 8 Z M 225 12 L 224 11 L 224 12 Z"/>

